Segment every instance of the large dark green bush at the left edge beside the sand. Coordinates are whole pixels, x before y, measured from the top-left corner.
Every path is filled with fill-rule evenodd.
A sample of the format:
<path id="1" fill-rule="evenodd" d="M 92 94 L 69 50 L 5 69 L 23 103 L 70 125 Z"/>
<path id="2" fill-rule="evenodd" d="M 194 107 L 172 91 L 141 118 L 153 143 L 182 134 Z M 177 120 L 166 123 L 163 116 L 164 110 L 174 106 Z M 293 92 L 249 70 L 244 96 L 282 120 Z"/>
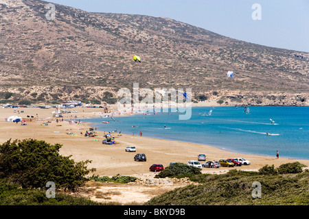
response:
<path id="1" fill-rule="evenodd" d="M 18 183 L 23 188 L 45 188 L 53 181 L 56 188 L 74 190 L 87 179 L 85 162 L 74 162 L 59 155 L 60 144 L 41 140 L 8 140 L 0 145 L 0 179 Z"/>

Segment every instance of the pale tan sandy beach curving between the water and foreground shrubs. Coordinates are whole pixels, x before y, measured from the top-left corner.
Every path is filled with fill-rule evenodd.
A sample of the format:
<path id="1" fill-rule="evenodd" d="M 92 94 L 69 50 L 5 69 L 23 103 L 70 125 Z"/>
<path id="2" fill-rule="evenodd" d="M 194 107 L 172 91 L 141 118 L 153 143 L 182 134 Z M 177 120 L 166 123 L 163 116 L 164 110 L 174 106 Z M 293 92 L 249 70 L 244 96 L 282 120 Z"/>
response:
<path id="1" fill-rule="evenodd" d="M 16 112 L 14 112 L 16 110 Z M 23 110 L 23 113 L 20 113 Z M 91 118 L 98 117 L 103 114 L 103 109 L 98 108 L 82 108 L 76 107 L 71 109 L 78 111 L 77 113 L 64 114 L 64 119 L 76 118 L 76 120 L 81 118 Z M 19 111 L 19 112 L 18 112 Z M 60 154 L 69 156 L 72 155 L 71 159 L 76 162 L 85 161 L 87 159 L 91 160 L 91 164 L 88 165 L 89 168 L 96 168 L 96 172 L 91 173 L 91 175 L 100 176 L 115 176 L 119 175 L 130 175 L 138 177 L 139 179 L 148 179 L 155 176 L 155 172 L 149 172 L 149 167 L 152 164 L 163 164 L 163 166 L 168 166 L 170 162 L 183 162 L 187 163 L 190 159 L 197 160 L 197 156 L 200 153 L 205 153 L 208 160 L 219 160 L 227 159 L 233 157 L 244 157 L 251 161 L 249 166 L 240 167 L 220 167 L 220 168 L 203 168 L 203 173 L 225 173 L 232 169 L 238 170 L 258 170 L 268 165 L 273 165 L 275 168 L 281 164 L 300 162 L 309 166 L 309 160 L 301 159 L 288 159 L 279 157 L 276 159 L 276 151 L 274 151 L 273 157 L 267 157 L 262 155 L 249 155 L 242 153 L 233 153 L 229 151 L 224 151 L 216 147 L 202 145 L 202 144 L 191 144 L 187 142 L 177 142 L 171 140 L 160 140 L 155 138 L 145 138 L 141 136 L 130 136 L 119 133 L 112 133 L 115 136 L 116 144 L 106 145 L 102 144 L 104 140 L 104 131 L 111 131 L 108 129 L 108 124 L 106 124 L 106 130 L 98 131 L 95 137 L 84 137 L 80 132 L 85 133 L 91 127 L 87 123 L 69 123 L 69 121 L 60 121 L 56 123 L 56 118 L 52 117 L 52 112 L 54 109 L 40 109 L 40 108 L 18 108 L 18 109 L 3 109 L 0 108 L 0 144 L 6 142 L 10 139 L 36 139 L 45 140 L 50 144 L 62 144 L 60 149 Z M 22 118 L 27 118 L 27 116 L 34 116 L 31 122 L 27 125 L 21 125 L 21 123 L 5 122 L 5 118 L 9 116 L 21 116 Z M 103 114 L 104 115 L 104 114 Z M 36 118 L 38 120 L 36 120 Z M 36 120 L 36 121 L 35 121 Z M 51 121 L 52 123 L 43 124 L 43 122 Z M 93 127 L 95 128 L 95 127 Z M 67 133 L 74 133 L 75 136 L 70 136 Z M 98 141 L 93 141 L 98 140 Z M 135 152 L 125 152 L 126 146 L 133 145 L 136 147 L 136 153 L 145 153 L 147 156 L 147 162 L 135 162 L 133 160 Z M 203 162 L 201 162 L 203 163 Z M 183 184 L 181 184 L 183 185 Z M 133 186 L 133 185 L 128 185 Z M 168 186 L 167 186 L 168 187 Z M 115 186 L 113 186 L 115 188 Z M 123 185 L 119 189 L 126 188 Z M 159 186 L 158 191 L 163 189 Z M 174 186 L 168 187 L 172 189 Z M 126 188 L 127 190 L 127 188 Z M 146 195 L 147 192 L 144 192 Z M 119 192 L 119 194 L 125 194 L 125 192 Z M 152 196 L 158 193 L 151 192 Z M 151 195 L 147 194 L 146 201 L 149 200 Z M 117 196 L 117 194 L 115 195 Z M 134 196 L 131 194 L 131 198 L 126 199 L 122 196 L 122 200 L 130 200 L 134 202 Z M 138 196 L 136 196 L 138 197 Z M 143 202 L 143 198 L 137 198 L 137 203 Z M 106 201 L 103 199 L 102 201 Z M 108 199 L 108 201 L 115 201 L 113 198 Z"/>

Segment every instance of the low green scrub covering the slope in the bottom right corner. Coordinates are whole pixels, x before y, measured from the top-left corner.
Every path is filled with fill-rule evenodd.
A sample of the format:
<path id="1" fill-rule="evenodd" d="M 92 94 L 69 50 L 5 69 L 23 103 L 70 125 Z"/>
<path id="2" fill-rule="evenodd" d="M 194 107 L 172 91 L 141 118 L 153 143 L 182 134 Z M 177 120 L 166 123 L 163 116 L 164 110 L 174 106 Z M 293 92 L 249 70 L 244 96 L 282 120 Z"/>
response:
<path id="1" fill-rule="evenodd" d="M 188 185 L 152 198 L 146 205 L 308 205 L 309 171 L 304 165 L 264 166 L 258 172 L 230 170 L 222 175 L 187 175 L 199 185 Z M 184 177 L 178 176 L 178 177 Z M 261 196 L 255 194 L 255 182 Z"/>

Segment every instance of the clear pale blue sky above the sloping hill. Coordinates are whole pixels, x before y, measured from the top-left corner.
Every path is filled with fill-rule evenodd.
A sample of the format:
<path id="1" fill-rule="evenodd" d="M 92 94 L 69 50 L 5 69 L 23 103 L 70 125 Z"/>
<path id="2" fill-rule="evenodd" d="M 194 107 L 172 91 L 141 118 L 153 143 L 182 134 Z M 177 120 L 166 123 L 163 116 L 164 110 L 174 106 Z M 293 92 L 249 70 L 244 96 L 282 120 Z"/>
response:
<path id="1" fill-rule="evenodd" d="M 237 40 L 309 52 L 308 0 L 45 1 L 87 12 L 163 16 Z"/>

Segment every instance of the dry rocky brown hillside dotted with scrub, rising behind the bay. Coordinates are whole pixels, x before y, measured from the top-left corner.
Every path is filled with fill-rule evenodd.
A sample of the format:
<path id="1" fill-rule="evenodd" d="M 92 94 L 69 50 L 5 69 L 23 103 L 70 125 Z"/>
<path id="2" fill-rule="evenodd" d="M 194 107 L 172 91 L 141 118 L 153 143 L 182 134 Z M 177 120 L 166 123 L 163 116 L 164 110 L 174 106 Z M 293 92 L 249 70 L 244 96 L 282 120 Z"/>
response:
<path id="1" fill-rule="evenodd" d="M 47 4 L 0 0 L 2 103 L 111 103 L 119 88 L 139 83 L 192 88 L 195 101 L 223 105 L 309 105 L 309 53 L 234 40 L 163 17 L 54 4 L 55 19 L 49 20 Z"/>

